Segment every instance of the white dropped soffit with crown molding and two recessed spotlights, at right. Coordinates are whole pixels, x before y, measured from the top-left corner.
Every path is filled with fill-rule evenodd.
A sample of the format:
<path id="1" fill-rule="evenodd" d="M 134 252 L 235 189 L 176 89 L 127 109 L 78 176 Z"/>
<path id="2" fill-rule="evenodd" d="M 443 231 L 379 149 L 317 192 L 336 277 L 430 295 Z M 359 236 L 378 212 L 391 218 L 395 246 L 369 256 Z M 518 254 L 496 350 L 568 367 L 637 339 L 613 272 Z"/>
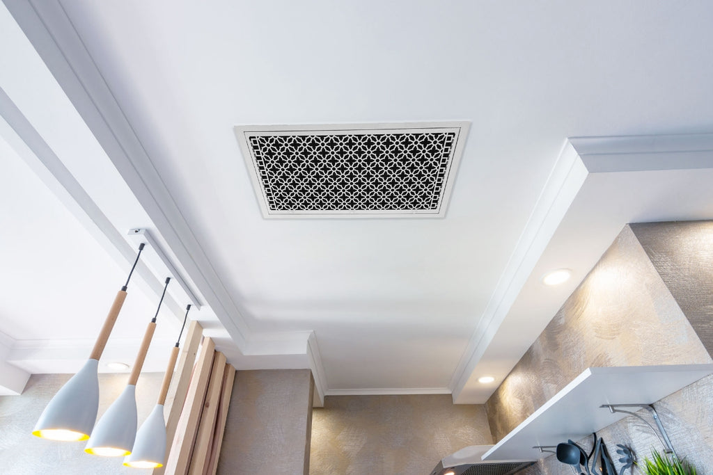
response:
<path id="1" fill-rule="evenodd" d="M 713 134 L 568 140 L 518 244 L 524 252 L 513 254 L 514 270 L 503 274 L 499 298 L 483 315 L 483 338 L 473 335 L 453 375 L 454 402 L 490 397 L 625 224 L 710 219 L 713 187 L 704 184 L 711 180 Z M 543 273 L 562 266 L 575 268 L 574 278 L 545 288 Z M 496 381 L 479 385 L 480 375 Z"/>

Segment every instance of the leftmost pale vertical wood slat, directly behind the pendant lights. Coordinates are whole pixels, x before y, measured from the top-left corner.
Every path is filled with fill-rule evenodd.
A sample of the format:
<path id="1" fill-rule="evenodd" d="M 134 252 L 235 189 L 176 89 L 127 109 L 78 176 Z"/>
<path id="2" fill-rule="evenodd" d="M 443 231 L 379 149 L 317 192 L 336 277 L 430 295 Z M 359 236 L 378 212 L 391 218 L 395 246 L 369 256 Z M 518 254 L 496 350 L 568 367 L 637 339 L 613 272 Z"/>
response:
<path id="1" fill-rule="evenodd" d="M 183 412 L 183 404 L 188 396 L 188 386 L 193 375 L 193 363 L 196 355 L 198 355 L 198 346 L 202 335 L 202 326 L 196 320 L 192 320 L 188 324 L 188 332 L 185 335 L 185 340 L 183 340 L 183 350 L 181 350 L 178 366 L 175 370 L 178 375 L 174 375 L 173 380 L 171 380 L 171 389 L 168 391 L 168 399 L 170 401 L 165 404 L 168 409 L 168 418 L 166 419 L 166 456 L 170 456 L 173 437 L 175 437 L 180 414 Z M 173 398 L 170 395 L 173 395 Z M 153 469 L 153 475 L 163 475 L 165 468 L 166 466 L 164 465 L 158 469 Z"/>

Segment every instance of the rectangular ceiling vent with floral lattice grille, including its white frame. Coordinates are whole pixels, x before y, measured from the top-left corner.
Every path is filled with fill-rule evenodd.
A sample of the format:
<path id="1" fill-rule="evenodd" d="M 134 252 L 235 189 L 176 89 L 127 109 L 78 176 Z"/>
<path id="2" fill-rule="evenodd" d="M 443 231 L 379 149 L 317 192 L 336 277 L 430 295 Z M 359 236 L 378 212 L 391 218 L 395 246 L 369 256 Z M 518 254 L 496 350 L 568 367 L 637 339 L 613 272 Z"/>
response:
<path id="1" fill-rule="evenodd" d="M 235 133 L 265 217 L 441 217 L 468 126 L 265 126 Z"/>

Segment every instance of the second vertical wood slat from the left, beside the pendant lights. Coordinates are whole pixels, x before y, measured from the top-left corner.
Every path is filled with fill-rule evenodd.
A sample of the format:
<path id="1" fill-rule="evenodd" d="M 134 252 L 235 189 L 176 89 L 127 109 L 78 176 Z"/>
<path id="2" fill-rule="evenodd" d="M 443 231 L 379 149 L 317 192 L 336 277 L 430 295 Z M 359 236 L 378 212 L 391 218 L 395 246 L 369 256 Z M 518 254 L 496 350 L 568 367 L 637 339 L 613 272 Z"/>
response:
<path id="1" fill-rule="evenodd" d="M 176 427 L 175 436 L 173 437 L 173 444 L 168 454 L 168 461 L 165 465 L 166 474 L 186 475 L 188 473 L 190 456 L 198 433 L 198 422 L 203 402 L 205 401 L 205 392 L 210 379 L 214 355 L 215 343 L 210 338 L 204 338 L 198 363 L 196 363 L 193 378 L 191 378 L 190 386 L 188 387 L 188 396 L 185 400 L 183 412 L 180 414 L 178 427 Z"/>

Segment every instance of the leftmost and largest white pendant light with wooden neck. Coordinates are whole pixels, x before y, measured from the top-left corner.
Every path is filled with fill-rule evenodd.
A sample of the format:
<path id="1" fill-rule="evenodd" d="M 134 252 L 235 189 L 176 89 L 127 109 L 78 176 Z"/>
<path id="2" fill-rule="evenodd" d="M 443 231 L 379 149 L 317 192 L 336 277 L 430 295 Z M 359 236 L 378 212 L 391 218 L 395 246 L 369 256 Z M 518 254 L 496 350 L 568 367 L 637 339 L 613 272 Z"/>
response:
<path id="1" fill-rule="evenodd" d="M 126 289 L 143 248 L 144 244 L 141 243 L 138 246 L 138 254 L 136 254 L 136 260 L 131 267 L 126 283 L 114 298 L 114 303 L 104 320 L 104 325 L 89 359 L 47 404 L 35 424 L 33 435 L 59 441 L 77 441 L 89 438 L 99 409 L 99 378 L 97 374 L 99 358 L 126 299 Z"/>

